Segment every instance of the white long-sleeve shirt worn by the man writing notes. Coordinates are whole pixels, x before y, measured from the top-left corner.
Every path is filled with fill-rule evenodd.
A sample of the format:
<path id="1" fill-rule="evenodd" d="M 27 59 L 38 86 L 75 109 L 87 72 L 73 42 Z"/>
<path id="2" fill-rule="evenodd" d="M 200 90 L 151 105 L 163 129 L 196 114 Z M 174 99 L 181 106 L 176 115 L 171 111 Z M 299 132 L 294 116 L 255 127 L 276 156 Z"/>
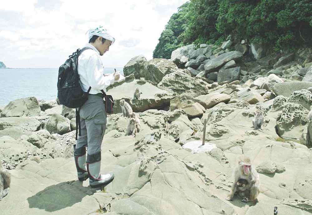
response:
<path id="1" fill-rule="evenodd" d="M 115 82 L 115 78 L 113 74 L 104 76 L 100 52 L 89 43 L 85 47 L 91 49 L 84 50 L 78 57 L 78 74 L 81 88 L 87 92 L 91 87 L 90 94 L 101 93 L 101 90 L 106 92 L 106 88 Z"/>

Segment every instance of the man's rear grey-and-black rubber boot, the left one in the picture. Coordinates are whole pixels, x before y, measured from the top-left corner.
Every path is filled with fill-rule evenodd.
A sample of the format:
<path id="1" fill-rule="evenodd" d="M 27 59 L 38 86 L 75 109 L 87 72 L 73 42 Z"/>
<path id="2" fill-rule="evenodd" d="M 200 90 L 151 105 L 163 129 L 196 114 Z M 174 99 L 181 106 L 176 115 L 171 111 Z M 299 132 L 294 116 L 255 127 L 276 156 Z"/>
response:
<path id="1" fill-rule="evenodd" d="M 85 167 L 85 161 L 87 158 L 87 155 L 85 153 L 85 147 L 81 147 L 76 149 L 76 144 L 74 145 L 74 157 L 75 157 L 75 164 L 77 168 L 77 174 L 78 174 L 78 179 L 80 181 L 85 181 L 88 179 L 88 171 L 86 170 Z"/>

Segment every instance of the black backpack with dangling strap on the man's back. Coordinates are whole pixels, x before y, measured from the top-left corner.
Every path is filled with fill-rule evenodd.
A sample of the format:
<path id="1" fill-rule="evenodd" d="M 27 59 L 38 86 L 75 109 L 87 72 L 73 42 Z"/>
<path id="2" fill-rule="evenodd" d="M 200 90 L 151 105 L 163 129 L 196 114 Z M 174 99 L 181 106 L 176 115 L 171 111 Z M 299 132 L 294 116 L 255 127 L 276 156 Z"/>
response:
<path id="1" fill-rule="evenodd" d="M 69 59 L 60 66 L 57 80 L 57 98 L 60 100 L 60 103 L 69 108 L 76 108 L 76 140 L 78 128 L 79 136 L 81 136 L 80 107 L 88 100 L 88 94 L 91 90 L 91 87 L 89 87 L 87 92 L 81 89 L 78 75 L 78 57 L 81 52 L 87 49 L 91 48 L 77 49 L 76 52 L 69 56 Z"/>

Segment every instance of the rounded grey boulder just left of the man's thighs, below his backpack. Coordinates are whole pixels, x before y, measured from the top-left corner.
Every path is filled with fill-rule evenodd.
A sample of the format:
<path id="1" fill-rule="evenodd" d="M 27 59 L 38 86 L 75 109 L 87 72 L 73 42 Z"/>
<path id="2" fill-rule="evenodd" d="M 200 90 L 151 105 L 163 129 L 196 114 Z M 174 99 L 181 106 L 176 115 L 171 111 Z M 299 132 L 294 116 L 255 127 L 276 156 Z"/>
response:
<path id="1" fill-rule="evenodd" d="M 66 134 L 71 131 L 71 121 L 61 114 L 53 113 L 46 123 L 45 129 L 51 134 Z"/>

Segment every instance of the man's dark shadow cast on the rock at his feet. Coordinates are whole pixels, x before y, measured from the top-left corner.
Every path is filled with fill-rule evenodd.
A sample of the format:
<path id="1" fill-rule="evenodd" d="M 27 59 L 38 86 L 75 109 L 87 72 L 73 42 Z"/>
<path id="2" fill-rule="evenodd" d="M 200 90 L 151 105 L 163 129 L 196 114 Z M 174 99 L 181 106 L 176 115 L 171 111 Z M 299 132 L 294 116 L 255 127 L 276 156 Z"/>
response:
<path id="1" fill-rule="evenodd" d="M 96 189 L 82 186 L 80 181 L 61 182 L 46 187 L 44 190 L 27 198 L 29 208 L 39 208 L 53 212 L 71 207 L 82 201 L 87 195 L 92 195 Z"/>

